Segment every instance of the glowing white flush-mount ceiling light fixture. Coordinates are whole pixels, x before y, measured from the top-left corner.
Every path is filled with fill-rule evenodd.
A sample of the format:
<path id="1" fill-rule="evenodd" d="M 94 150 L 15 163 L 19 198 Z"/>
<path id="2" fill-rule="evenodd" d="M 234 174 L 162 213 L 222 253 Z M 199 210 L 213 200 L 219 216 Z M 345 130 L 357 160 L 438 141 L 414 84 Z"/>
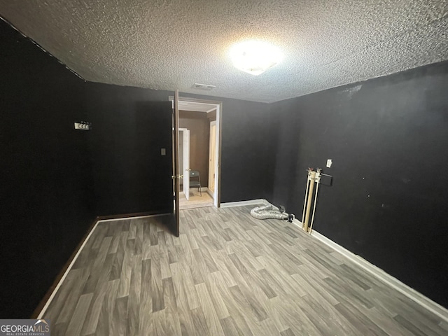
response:
<path id="1" fill-rule="evenodd" d="M 235 68 L 258 76 L 283 59 L 276 46 L 264 41 L 243 41 L 232 46 L 230 59 Z"/>

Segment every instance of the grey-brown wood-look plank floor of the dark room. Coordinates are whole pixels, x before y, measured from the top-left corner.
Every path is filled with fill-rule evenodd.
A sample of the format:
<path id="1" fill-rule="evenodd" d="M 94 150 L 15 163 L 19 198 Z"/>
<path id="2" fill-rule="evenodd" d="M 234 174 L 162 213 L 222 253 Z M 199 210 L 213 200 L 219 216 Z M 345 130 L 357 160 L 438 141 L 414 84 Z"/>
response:
<path id="1" fill-rule="evenodd" d="M 448 324 L 251 207 L 102 222 L 50 303 L 52 335 L 447 335 Z"/>

